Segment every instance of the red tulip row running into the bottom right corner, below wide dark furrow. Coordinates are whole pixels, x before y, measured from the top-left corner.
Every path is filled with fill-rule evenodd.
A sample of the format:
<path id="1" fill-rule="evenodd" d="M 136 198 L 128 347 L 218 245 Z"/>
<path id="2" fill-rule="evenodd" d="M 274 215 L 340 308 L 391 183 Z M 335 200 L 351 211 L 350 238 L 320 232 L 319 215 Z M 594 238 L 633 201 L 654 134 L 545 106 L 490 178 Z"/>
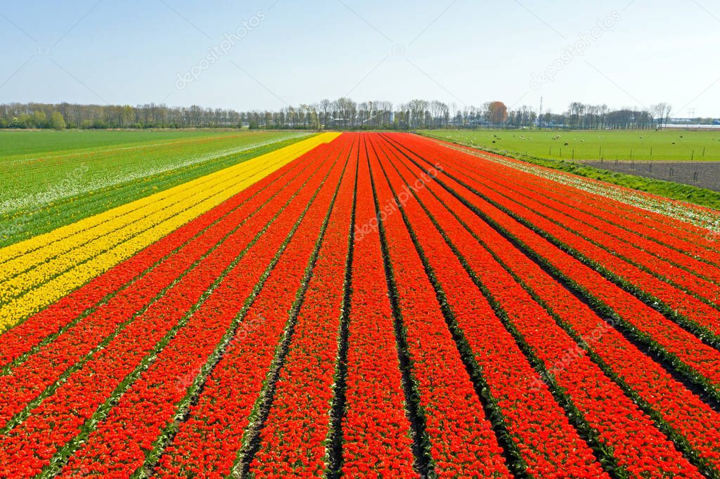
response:
<path id="1" fill-rule="evenodd" d="M 606 374 L 621 384 L 631 397 L 642 401 L 644 409 L 653 419 L 675 432 L 678 435 L 676 443 L 687 440 L 710 467 L 720 470 L 720 432 L 715 426 L 720 424 L 720 414 L 672 378 L 662 366 L 627 341 L 610 324 L 606 324 L 459 200 L 446 194 L 443 195 L 443 204 L 430 194 L 426 194 L 425 199 L 426 207 L 438 218 L 442 216 L 442 209 L 447 208 L 451 214 L 462 219 L 464 226 L 474 233 L 483 247 L 495 245 L 491 251 L 496 260 L 554 314 L 565 331 L 584 342 L 583 349 L 594 355 L 593 360 L 603 365 Z M 423 239 L 428 236 L 427 231 L 423 229 Z M 454 229 L 450 236 L 455 240 L 461 234 L 462 231 Z M 438 247 L 433 247 L 432 257 L 437 255 L 438 250 Z"/>

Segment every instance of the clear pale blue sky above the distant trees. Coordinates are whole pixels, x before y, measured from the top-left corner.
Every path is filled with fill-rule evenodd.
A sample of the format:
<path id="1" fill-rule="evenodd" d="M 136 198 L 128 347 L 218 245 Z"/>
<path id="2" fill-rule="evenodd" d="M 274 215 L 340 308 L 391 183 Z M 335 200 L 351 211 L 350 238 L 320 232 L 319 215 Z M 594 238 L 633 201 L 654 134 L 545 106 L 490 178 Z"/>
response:
<path id="1" fill-rule="evenodd" d="M 546 111 L 667 101 L 720 116 L 716 0 L 1 0 L 0 45 L 2 103 L 543 96 Z"/>

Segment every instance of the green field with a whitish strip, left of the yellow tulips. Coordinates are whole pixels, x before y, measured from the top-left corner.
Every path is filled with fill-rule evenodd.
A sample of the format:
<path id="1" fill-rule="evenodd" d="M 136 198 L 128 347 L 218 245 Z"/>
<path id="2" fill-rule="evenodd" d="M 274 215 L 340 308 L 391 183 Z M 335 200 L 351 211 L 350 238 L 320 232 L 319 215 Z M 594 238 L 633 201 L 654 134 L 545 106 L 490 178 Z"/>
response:
<path id="1" fill-rule="evenodd" d="M 0 246 L 306 136 L 260 131 L 0 132 Z"/>

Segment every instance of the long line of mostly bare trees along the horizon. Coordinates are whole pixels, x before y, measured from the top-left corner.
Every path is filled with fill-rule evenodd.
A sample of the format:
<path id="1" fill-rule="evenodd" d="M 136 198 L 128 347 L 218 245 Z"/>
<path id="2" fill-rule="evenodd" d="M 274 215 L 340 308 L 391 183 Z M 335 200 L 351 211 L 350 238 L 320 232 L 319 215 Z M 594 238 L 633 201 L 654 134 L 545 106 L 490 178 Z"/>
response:
<path id="1" fill-rule="evenodd" d="M 667 124 L 672 107 L 611 110 L 607 105 L 572 102 L 567 111 L 538 112 L 523 105 L 508 109 L 502 101 L 458 106 L 442 101 L 390 101 L 348 98 L 287 106 L 276 111 L 235 111 L 201 106 L 157 104 L 80 105 L 0 104 L 0 128 L 243 128 L 251 129 L 443 129 L 572 128 L 648 129 Z"/>

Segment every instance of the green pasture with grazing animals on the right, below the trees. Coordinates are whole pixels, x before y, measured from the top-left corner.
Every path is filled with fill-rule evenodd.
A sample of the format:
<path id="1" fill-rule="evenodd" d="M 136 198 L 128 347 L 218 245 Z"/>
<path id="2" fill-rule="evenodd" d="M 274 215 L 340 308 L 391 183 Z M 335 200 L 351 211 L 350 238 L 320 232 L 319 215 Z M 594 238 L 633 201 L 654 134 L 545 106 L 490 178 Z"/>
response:
<path id="1" fill-rule="evenodd" d="M 512 156 L 554 160 L 720 160 L 718 130 L 438 129 L 420 133 L 463 145 L 507 151 Z"/>

